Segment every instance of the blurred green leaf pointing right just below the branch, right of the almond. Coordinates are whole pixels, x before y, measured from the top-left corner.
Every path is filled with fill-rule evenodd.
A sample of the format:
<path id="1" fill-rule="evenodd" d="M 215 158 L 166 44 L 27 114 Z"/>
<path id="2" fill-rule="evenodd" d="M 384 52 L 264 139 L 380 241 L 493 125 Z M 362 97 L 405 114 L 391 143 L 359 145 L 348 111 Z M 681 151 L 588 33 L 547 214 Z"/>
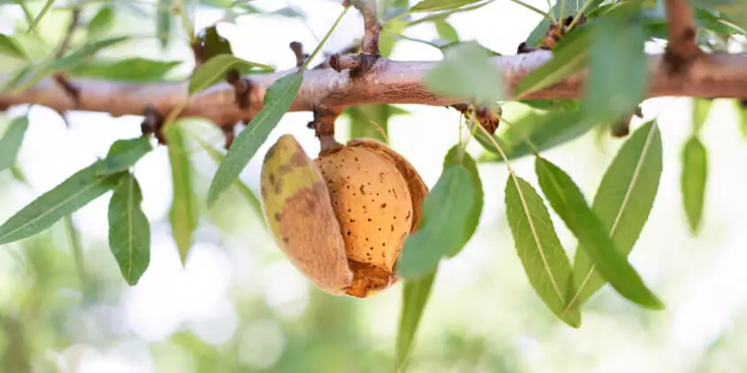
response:
<path id="1" fill-rule="evenodd" d="M 533 110 L 510 123 L 502 124 L 503 129 L 494 135 L 509 160 L 528 156 L 535 149 L 541 152 L 555 148 L 577 139 L 594 127 L 591 122 L 583 120 L 581 112 L 577 110 Z M 477 141 L 492 154 L 481 161 L 504 162 L 486 136 L 481 132 L 475 133 Z"/>

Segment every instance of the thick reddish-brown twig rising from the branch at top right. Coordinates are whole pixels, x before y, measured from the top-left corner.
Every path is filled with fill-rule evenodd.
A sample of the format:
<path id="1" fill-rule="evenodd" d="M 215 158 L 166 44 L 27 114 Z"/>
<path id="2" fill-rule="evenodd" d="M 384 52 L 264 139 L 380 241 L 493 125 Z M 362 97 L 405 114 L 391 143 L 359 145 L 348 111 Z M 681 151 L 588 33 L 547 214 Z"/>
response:
<path id="1" fill-rule="evenodd" d="M 688 0 L 666 0 L 666 21 L 669 25 L 666 63 L 670 72 L 682 72 L 702 53 L 697 48 L 695 21 Z"/>

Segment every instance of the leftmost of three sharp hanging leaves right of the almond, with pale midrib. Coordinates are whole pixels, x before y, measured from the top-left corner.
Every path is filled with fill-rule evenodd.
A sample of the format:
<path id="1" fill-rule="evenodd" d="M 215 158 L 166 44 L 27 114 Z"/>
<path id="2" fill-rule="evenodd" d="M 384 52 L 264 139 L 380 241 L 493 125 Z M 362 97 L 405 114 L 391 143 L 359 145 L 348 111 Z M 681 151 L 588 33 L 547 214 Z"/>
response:
<path id="1" fill-rule="evenodd" d="M 581 326 L 581 311 L 566 305 L 572 284 L 571 262 L 558 240 L 542 197 L 526 180 L 509 177 L 505 186 L 506 217 L 529 283 L 551 311 L 566 324 Z"/>

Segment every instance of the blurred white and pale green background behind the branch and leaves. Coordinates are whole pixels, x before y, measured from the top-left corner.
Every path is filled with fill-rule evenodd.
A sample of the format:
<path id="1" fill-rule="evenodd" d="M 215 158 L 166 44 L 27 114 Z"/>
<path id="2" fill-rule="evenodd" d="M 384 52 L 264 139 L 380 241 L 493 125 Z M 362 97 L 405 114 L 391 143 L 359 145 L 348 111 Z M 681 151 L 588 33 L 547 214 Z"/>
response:
<path id="1" fill-rule="evenodd" d="M 7 2 L 0 2 L 5 4 Z M 103 2 L 101 2 L 103 3 Z M 304 17 L 249 14 L 221 22 L 224 12 L 201 6 L 196 29 L 219 23 L 235 54 L 286 69 L 295 64 L 289 42 L 317 45 L 342 11 L 338 1 L 257 0 L 263 11 L 292 8 Z M 528 2 L 546 10 L 541 0 Z M 42 1 L 27 2 L 39 11 Z M 47 43 L 27 38 L 24 47 L 49 53 L 64 34 L 72 2 L 58 1 L 42 20 Z M 174 79 L 189 76 L 191 50 L 181 27 L 162 51 L 155 34 L 154 1 L 114 1 L 110 34 L 135 40 L 104 51 L 108 57 L 185 61 Z M 95 11 L 96 7 L 88 7 Z M 89 15 L 88 13 L 86 13 Z M 513 54 L 541 17 L 508 1 L 449 21 L 463 41 L 475 40 Z M 175 18 L 174 22 L 178 22 Z M 23 34 L 24 15 L 0 5 L 0 32 Z M 325 47 L 335 52 L 362 34 L 350 11 Z M 151 35 L 151 36 L 149 36 Z M 435 27 L 406 30 L 434 40 Z M 46 45 L 46 46 L 45 46 Z M 661 44 L 651 43 L 651 50 Z M 46 48 L 46 49 L 45 49 Z M 440 49 L 400 40 L 400 60 L 437 60 Z M 321 57 L 316 63 L 322 61 Z M 2 64 L 0 64 L 2 65 Z M 433 186 L 443 156 L 458 141 L 456 110 L 403 105 L 409 114 L 389 120 L 389 144 Z M 481 164 L 485 208 L 474 239 L 443 262 L 412 354 L 412 372 L 740 372 L 747 369 L 747 139 L 733 102 L 718 100 L 702 138 L 709 150 L 704 222 L 689 233 L 679 182 L 680 152 L 690 130 L 691 103 L 659 98 L 643 104 L 644 119 L 659 119 L 664 171 L 651 217 L 630 256 L 635 268 L 666 303 L 662 311 L 638 308 L 605 286 L 583 307 L 580 329 L 560 322 L 530 287 L 504 219 L 503 164 Z M 0 172 L 0 220 L 104 157 L 113 141 L 140 134 L 138 117 L 72 112 L 66 121 L 44 107 L 13 107 L 0 116 L 0 133 L 11 118 L 30 126 L 19 153 L 19 171 Z M 258 189 L 261 159 L 283 133 L 293 133 L 311 156 L 319 151 L 305 128 L 311 113 L 289 113 L 241 179 Z M 186 123 L 216 147 L 222 134 L 197 120 Z M 350 138 L 350 118 L 338 123 L 338 141 Z M 623 140 L 589 132 L 544 153 L 568 171 L 589 200 Z M 470 149 L 481 154 L 476 141 Z M 150 267 L 135 286 L 121 278 L 107 246 L 110 194 L 27 240 L 0 247 L 0 372 L 197 373 L 197 372 L 383 372 L 394 365 L 401 284 L 358 300 L 320 292 L 290 265 L 265 231 L 262 218 L 234 189 L 213 209 L 205 196 L 216 164 L 189 142 L 200 209 L 194 245 L 185 266 L 173 242 L 168 210 L 172 198 L 165 147 L 134 169 L 151 223 Z M 535 186 L 533 159 L 512 163 Z M 553 215 L 564 247 L 575 240 Z M 71 229 L 72 228 L 72 229 Z M 71 234 L 73 232 L 74 234 Z M 573 257 L 573 256 L 571 256 Z"/>

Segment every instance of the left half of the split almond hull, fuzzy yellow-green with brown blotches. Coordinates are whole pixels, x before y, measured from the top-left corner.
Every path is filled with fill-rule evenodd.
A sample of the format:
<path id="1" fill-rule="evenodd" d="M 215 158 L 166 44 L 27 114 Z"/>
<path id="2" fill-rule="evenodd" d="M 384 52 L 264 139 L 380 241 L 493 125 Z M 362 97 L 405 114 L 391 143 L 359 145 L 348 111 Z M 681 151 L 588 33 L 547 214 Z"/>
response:
<path id="1" fill-rule="evenodd" d="M 290 263 L 327 293 L 345 293 L 352 273 L 327 186 L 292 135 L 267 151 L 260 185 L 267 225 Z"/>

